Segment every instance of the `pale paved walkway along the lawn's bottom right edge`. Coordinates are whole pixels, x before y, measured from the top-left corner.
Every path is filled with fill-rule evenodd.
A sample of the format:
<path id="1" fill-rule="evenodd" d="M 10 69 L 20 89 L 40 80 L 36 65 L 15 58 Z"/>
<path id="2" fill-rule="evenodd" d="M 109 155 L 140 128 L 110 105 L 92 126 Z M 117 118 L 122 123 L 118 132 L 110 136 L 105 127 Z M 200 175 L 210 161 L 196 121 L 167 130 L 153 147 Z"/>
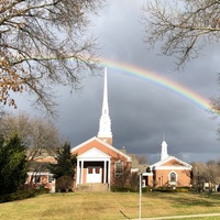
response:
<path id="1" fill-rule="evenodd" d="M 220 213 L 199 213 L 199 215 L 187 215 L 187 216 L 141 218 L 141 220 L 186 219 L 186 218 L 218 217 L 218 216 L 220 217 Z M 132 220 L 140 220 L 140 219 L 132 219 Z"/>

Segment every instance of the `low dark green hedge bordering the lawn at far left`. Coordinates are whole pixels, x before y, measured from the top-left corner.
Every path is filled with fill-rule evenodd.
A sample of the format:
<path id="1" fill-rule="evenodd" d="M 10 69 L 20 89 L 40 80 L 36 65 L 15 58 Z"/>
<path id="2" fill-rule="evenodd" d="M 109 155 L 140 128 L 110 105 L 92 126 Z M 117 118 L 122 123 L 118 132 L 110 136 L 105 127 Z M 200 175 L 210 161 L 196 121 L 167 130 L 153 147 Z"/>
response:
<path id="1" fill-rule="evenodd" d="M 50 191 L 48 189 L 31 189 L 31 190 L 14 193 L 14 194 L 2 195 L 2 196 L 0 196 L 0 204 L 28 199 L 28 198 L 35 197 L 41 194 L 48 194 L 48 191 Z"/>

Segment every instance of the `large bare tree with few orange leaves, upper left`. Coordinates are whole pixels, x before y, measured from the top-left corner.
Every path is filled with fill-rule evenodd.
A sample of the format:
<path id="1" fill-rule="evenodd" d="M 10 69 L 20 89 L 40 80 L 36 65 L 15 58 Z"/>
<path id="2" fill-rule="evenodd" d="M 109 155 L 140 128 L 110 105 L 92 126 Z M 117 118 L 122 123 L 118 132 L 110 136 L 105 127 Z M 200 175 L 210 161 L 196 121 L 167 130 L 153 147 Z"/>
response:
<path id="1" fill-rule="evenodd" d="M 0 102 L 16 108 L 13 92 L 30 92 L 53 113 L 55 85 L 77 89 L 95 69 L 89 15 L 101 0 L 0 0 Z"/>

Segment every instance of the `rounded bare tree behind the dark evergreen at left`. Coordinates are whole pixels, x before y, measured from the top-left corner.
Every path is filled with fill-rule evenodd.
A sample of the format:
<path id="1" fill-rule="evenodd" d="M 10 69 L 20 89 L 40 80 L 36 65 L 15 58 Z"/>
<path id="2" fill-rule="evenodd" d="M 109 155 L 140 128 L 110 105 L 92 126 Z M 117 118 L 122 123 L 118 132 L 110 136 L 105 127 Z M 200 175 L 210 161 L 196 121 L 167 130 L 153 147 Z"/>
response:
<path id="1" fill-rule="evenodd" d="M 55 155 L 61 146 L 59 133 L 48 120 L 31 118 L 28 113 L 6 114 L 0 121 L 0 132 L 4 138 L 18 133 L 28 146 L 28 158 L 34 161 L 41 155 Z"/>

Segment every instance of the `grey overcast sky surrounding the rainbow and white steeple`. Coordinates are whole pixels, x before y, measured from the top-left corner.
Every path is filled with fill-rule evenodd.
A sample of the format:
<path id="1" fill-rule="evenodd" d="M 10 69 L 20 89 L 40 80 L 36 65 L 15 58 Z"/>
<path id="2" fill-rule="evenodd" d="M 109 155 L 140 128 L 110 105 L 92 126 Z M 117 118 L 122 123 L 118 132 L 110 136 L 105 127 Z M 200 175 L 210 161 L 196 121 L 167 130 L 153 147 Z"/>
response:
<path id="1" fill-rule="evenodd" d="M 152 70 L 209 99 L 218 95 L 217 73 L 220 46 L 207 45 L 199 58 L 175 70 L 173 57 L 158 56 L 143 43 L 140 23 L 144 0 L 109 0 L 92 18 L 91 31 L 98 37 L 100 56 Z M 78 94 L 59 90 L 59 119 L 56 124 L 65 140 L 76 146 L 97 135 L 101 116 L 103 77 L 88 77 Z M 220 158 L 220 141 L 211 114 L 193 101 L 157 86 L 108 68 L 109 108 L 113 146 L 144 155 L 148 163 L 160 160 L 163 133 L 168 154 L 186 162 Z"/>

